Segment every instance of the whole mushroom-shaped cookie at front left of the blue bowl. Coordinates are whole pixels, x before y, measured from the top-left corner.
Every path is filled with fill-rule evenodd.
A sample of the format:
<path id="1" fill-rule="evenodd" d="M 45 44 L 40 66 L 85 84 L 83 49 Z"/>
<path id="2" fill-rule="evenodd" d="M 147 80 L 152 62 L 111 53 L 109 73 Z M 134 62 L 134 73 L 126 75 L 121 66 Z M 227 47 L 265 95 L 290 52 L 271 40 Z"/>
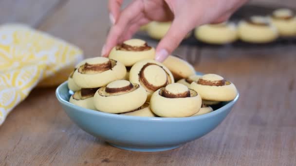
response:
<path id="1" fill-rule="evenodd" d="M 106 113 L 126 113 L 138 110 L 146 101 L 145 89 L 136 83 L 117 80 L 101 87 L 94 95 L 94 106 Z"/>

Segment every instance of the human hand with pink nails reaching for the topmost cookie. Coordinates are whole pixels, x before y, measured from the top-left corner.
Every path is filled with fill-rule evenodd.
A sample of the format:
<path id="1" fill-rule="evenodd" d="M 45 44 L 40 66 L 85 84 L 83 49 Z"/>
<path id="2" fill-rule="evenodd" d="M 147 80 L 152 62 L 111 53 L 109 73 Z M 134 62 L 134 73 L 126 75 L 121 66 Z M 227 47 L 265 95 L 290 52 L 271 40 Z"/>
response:
<path id="1" fill-rule="evenodd" d="M 155 60 L 163 62 L 196 26 L 226 21 L 247 0 L 134 0 L 120 10 L 123 0 L 109 0 L 113 24 L 102 49 L 107 57 L 118 43 L 128 40 L 150 21 L 172 21 L 156 48 Z"/>

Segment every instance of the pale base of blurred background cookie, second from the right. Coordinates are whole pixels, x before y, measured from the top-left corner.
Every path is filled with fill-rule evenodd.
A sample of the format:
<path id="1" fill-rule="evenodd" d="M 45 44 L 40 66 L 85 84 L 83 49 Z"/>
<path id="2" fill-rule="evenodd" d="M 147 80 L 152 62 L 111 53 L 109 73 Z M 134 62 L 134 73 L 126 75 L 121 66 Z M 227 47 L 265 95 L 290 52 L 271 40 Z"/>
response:
<path id="1" fill-rule="evenodd" d="M 256 26 L 245 21 L 240 21 L 238 30 L 240 39 L 250 43 L 269 43 L 278 36 L 274 26 Z"/>

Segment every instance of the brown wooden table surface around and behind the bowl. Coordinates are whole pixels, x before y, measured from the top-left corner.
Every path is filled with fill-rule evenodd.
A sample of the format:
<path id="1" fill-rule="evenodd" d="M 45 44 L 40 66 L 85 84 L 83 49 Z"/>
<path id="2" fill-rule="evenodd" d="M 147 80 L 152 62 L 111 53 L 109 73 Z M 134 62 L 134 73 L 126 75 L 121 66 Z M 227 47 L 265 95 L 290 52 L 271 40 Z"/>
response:
<path id="1" fill-rule="evenodd" d="M 295 0 L 253 0 L 296 7 Z M 0 0 L 0 23 L 27 23 L 100 55 L 107 0 Z M 152 43 L 155 45 L 155 43 Z M 55 88 L 35 89 L 0 126 L 0 166 L 296 166 L 296 47 L 191 48 L 196 70 L 234 82 L 240 99 L 214 131 L 164 152 L 113 148 L 64 113 Z"/>

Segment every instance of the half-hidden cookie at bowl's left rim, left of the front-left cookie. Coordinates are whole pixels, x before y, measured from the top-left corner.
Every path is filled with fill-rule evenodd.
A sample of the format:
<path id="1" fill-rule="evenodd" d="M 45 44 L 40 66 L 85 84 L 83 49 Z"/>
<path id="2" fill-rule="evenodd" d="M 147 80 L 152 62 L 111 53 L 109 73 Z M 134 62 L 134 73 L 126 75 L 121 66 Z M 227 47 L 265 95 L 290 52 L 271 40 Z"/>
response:
<path id="1" fill-rule="evenodd" d="M 93 105 L 93 95 L 88 94 L 85 96 L 81 95 L 81 90 L 76 91 L 70 98 L 69 102 L 71 102 L 74 105 L 78 105 L 83 108 L 96 110 L 96 108 Z"/>

